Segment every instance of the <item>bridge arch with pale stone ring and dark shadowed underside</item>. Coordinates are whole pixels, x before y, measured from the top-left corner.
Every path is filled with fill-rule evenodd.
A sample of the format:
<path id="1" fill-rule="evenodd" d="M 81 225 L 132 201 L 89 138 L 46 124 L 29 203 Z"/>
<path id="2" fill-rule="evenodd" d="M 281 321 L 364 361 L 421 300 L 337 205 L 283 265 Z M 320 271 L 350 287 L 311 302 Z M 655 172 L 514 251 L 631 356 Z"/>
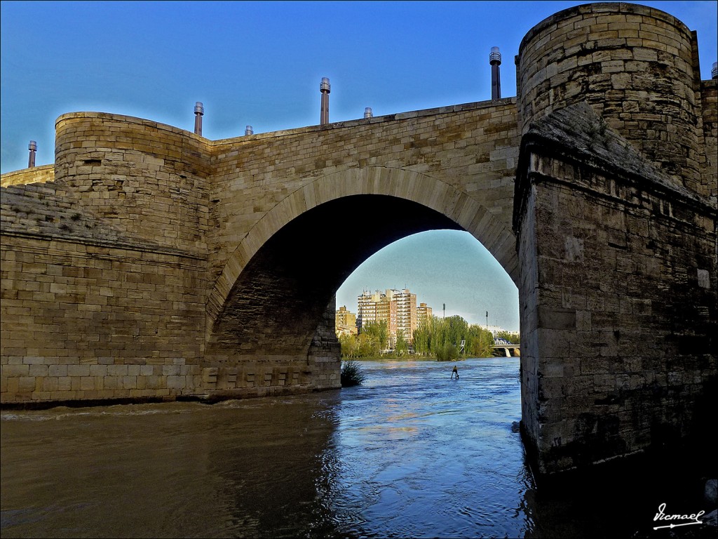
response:
<path id="1" fill-rule="evenodd" d="M 208 301 L 208 349 L 304 354 L 356 267 L 393 241 L 436 229 L 470 232 L 517 282 L 510 226 L 452 185 L 387 167 L 313 180 L 266 213 L 231 254 Z"/>

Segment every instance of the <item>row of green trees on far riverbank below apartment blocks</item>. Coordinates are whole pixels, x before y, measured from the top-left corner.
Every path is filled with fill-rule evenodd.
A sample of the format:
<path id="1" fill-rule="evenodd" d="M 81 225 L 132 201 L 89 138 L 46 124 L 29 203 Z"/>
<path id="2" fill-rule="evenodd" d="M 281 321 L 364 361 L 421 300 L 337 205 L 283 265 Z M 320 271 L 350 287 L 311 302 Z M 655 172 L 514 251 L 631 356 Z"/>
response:
<path id="1" fill-rule="evenodd" d="M 342 356 L 347 358 L 377 357 L 388 346 L 388 328 L 386 322 L 369 322 L 361 333 L 342 335 Z M 515 335 L 502 335 L 518 344 Z M 437 359 L 453 361 L 459 357 L 490 357 L 492 355 L 493 333 L 478 326 L 470 326 L 460 316 L 439 318 L 432 316 L 421 323 L 414 331 L 414 354 L 435 356 Z M 409 354 L 409 342 L 399 332 L 396 336 L 393 356 Z"/>

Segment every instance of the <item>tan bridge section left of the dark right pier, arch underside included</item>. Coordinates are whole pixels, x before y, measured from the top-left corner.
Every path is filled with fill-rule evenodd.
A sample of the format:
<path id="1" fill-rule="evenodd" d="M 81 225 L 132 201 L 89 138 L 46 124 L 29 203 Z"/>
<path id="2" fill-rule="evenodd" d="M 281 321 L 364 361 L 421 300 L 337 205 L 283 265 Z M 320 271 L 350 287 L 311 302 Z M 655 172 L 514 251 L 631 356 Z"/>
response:
<path id="1" fill-rule="evenodd" d="M 422 226 L 517 274 L 513 98 L 221 141 L 103 113 L 56 134 L 55 165 L 2 176 L 3 402 L 339 387 L 335 288 Z M 325 208 L 360 195 L 404 204 L 337 267 Z"/>

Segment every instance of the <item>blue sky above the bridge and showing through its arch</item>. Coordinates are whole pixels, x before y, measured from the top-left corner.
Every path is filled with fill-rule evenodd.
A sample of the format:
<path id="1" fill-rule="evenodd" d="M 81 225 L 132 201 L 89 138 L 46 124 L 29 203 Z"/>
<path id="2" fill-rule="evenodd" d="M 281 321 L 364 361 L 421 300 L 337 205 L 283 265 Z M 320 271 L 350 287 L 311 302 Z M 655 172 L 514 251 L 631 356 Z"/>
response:
<path id="1" fill-rule="evenodd" d="M 203 135 L 223 139 L 242 135 L 246 125 L 260 133 L 318 124 L 322 77 L 332 84 L 330 121 L 360 118 L 367 106 L 381 116 L 483 101 L 490 98 L 491 47 L 503 55 L 502 96 L 514 96 L 521 38 L 583 3 L 2 1 L 0 169 L 26 167 L 30 139 L 38 144 L 37 165 L 54 162 L 55 119 L 72 111 L 192 130 L 195 101 L 202 101 Z M 701 78 L 710 78 L 718 2 L 636 3 L 698 32 Z M 412 267 L 431 275 L 406 266 L 401 275 L 390 271 L 402 249 L 423 253 Z M 451 279 L 447 264 L 454 264 Z M 447 315 L 485 323 L 489 310 L 489 323 L 518 329 L 516 287 L 505 274 L 486 277 L 492 264 L 503 273 L 465 234 L 426 233 L 369 259 L 371 272 L 360 267 L 337 303 L 355 307 L 363 287 L 406 285 L 437 311 L 446 303 Z"/>

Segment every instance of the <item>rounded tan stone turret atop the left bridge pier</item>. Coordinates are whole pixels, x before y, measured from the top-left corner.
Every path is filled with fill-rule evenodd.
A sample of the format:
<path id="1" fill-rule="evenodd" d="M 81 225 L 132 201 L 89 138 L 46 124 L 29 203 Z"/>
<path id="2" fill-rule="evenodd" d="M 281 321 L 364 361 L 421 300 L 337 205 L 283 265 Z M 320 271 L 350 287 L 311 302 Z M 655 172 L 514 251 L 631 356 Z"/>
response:
<path id="1" fill-rule="evenodd" d="M 62 194 L 135 241 L 204 255 L 205 139 L 154 121 L 90 112 L 60 116 L 55 131 Z"/>

